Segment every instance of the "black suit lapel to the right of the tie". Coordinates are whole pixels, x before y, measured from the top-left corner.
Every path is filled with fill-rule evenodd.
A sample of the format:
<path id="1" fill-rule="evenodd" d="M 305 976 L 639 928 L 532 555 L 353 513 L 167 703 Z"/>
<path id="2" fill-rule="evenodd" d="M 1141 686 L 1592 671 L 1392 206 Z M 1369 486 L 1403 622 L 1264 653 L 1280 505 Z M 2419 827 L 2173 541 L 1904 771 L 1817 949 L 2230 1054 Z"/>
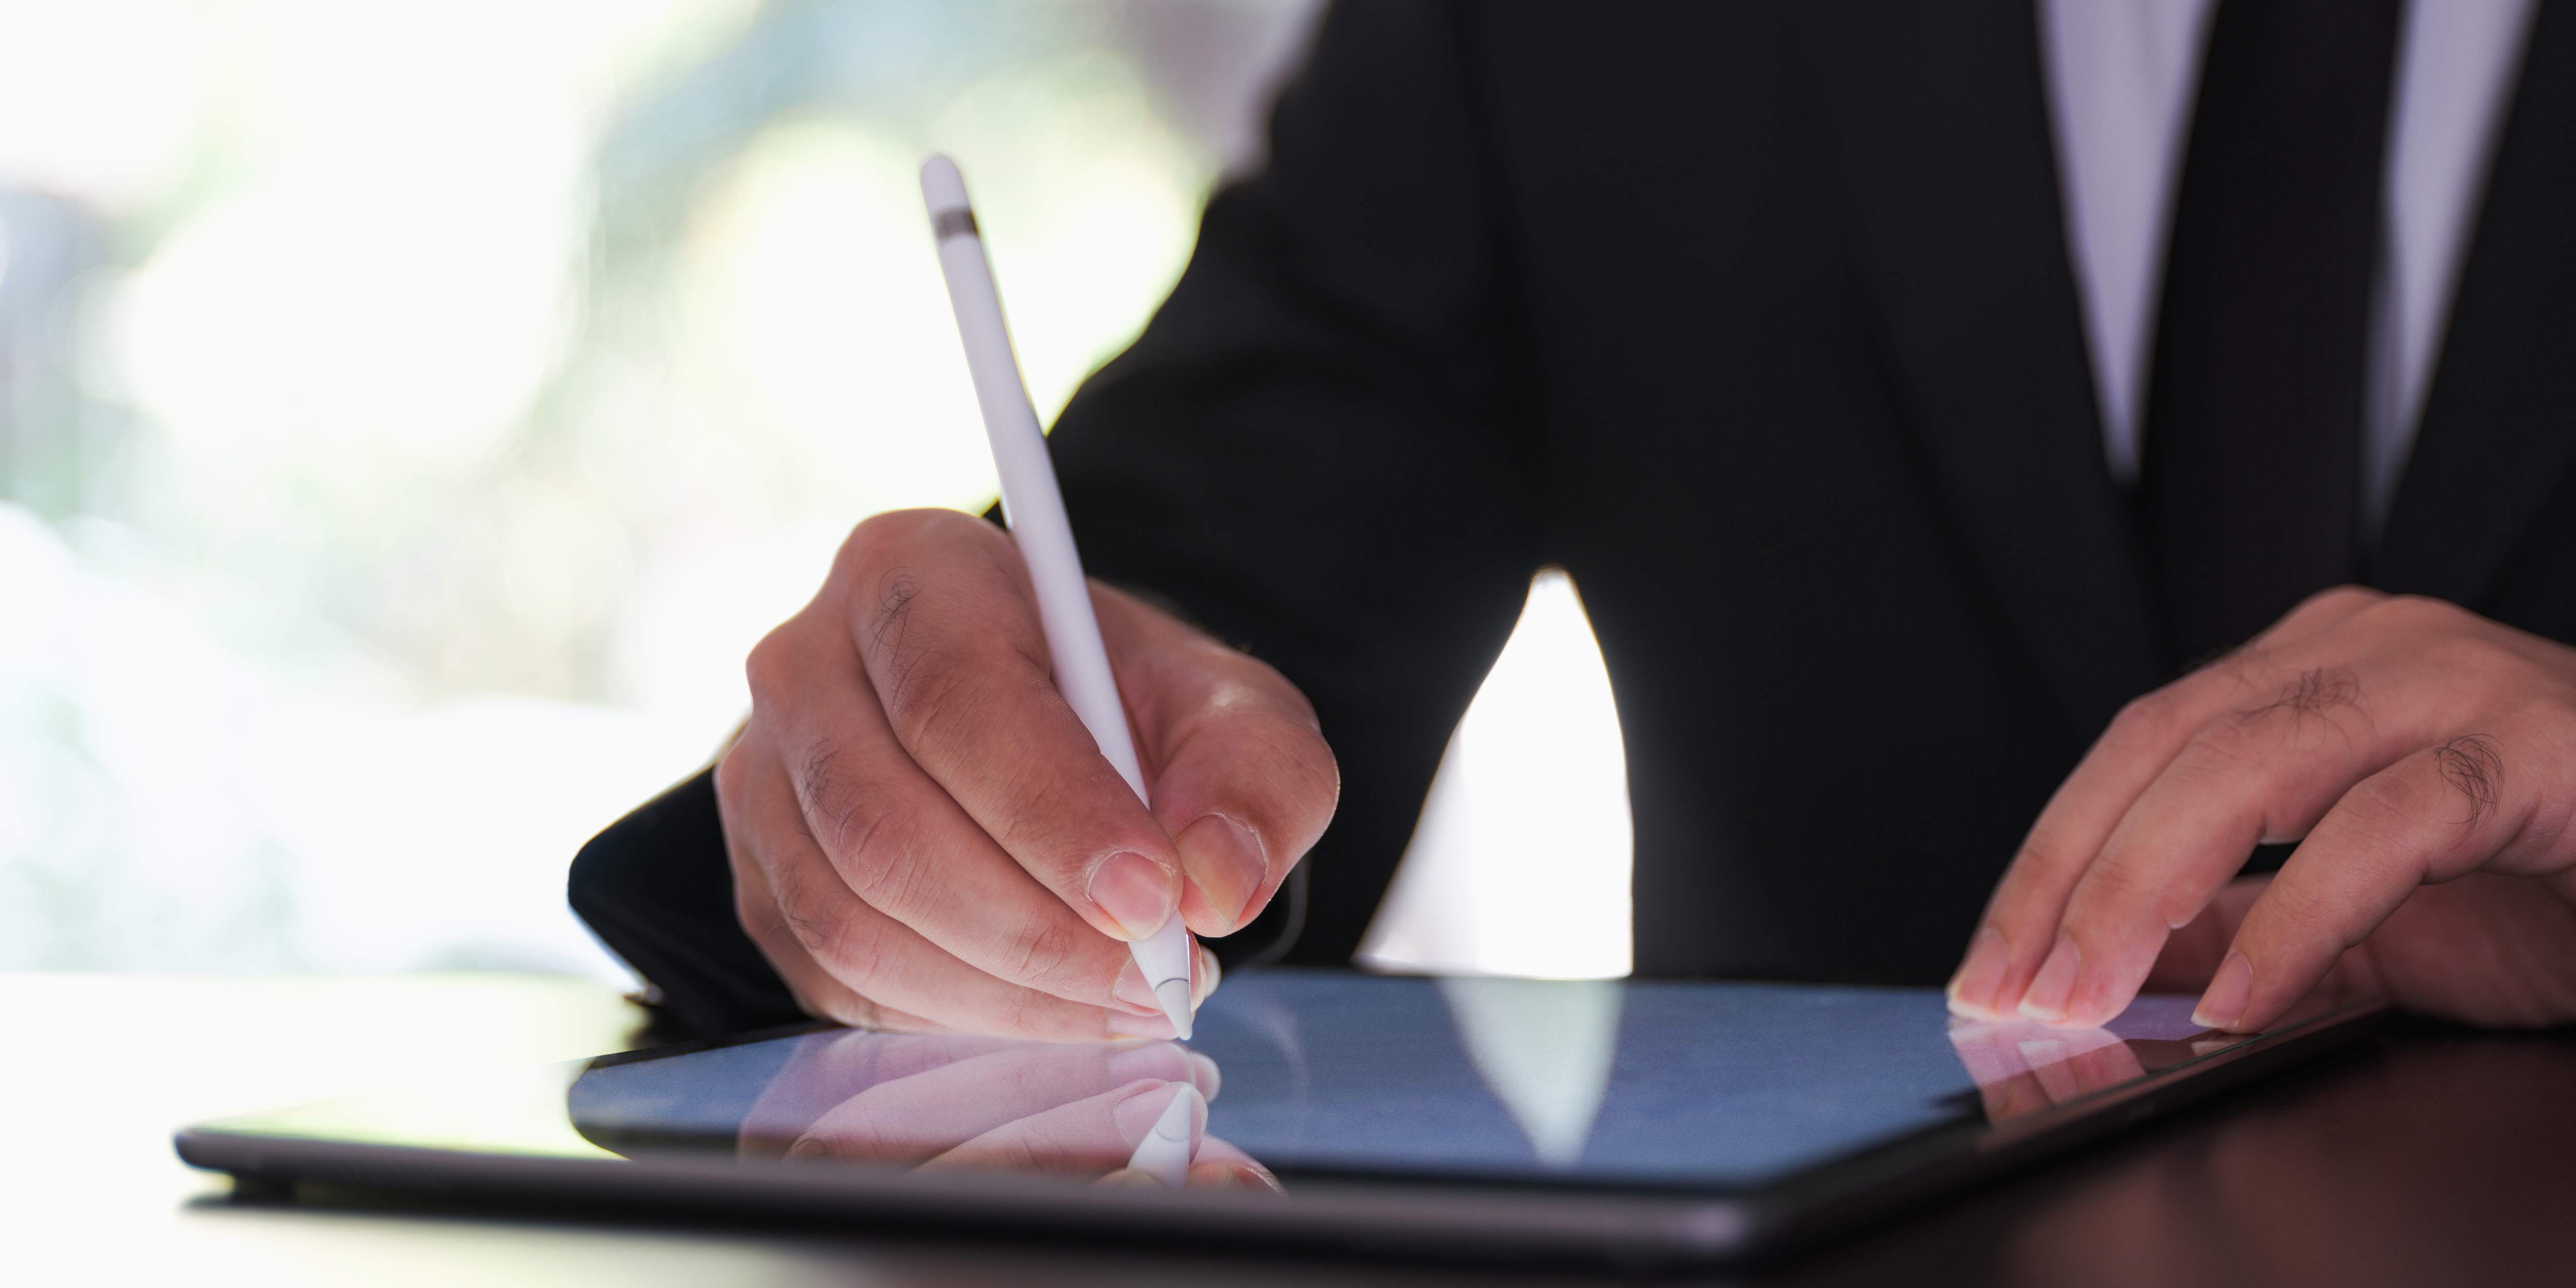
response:
<path id="1" fill-rule="evenodd" d="M 2478 605 L 2571 461 L 2576 5 L 2543 3 L 2372 582 Z"/>

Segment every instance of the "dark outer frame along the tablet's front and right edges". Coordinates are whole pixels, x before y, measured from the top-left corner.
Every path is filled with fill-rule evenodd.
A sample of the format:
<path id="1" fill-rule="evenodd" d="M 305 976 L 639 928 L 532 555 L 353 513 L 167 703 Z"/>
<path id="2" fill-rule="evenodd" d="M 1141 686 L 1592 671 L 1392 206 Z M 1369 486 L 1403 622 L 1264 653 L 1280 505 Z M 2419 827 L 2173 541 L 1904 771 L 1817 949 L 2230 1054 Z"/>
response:
<path id="1" fill-rule="evenodd" d="M 1025 1175 L 920 1175 L 732 1159 L 567 1159 L 263 1133 L 222 1123 L 175 1136 L 180 1159 L 260 1193 L 296 1185 L 688 1213 L 716 1221 L 855 1218 L 891 1226 L 1010 1226 L 1131 1239 L 1260 1242 L 1432 1257 L 1564 1257 L 1708 1265 L 1785 1252 L 1855 1224 L 1965 1190 L 2043 1157 L 2342 1048 L 2385 1007 L 2357 1002 L 2004 1123 L 1958 1121 L 1860 1149 L 1749 1190 L 1566 1182 L 1546 1177 L 1298 1172 L 1288 1198 L 1206 1190 L 1100 1190 Z M 832 1025 L 788 1025 L 598 1056 L 670 1059 Z"/>

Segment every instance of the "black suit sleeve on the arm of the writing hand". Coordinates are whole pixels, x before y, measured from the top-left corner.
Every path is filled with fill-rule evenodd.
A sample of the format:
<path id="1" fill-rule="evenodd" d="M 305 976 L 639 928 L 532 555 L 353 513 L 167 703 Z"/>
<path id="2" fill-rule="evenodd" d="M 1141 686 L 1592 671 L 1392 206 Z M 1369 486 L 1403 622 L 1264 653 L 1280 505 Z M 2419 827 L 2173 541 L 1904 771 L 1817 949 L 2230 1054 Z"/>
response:
<path id="1" fill-rule="evenodd" d="M 1056 422 L 1087 569 L 1275 665 L 1342 765 L 1293 889 L 1213 943 L 1229 963 L 1350 961 L 1540 559 L 1471 36 L 1443 5 L 1337 5 L 1267 167 L 1208 201 L 1180 286 Z M 734 922 L 711 778 L 572 868 L 696 1033 L 786 999 Z"/>

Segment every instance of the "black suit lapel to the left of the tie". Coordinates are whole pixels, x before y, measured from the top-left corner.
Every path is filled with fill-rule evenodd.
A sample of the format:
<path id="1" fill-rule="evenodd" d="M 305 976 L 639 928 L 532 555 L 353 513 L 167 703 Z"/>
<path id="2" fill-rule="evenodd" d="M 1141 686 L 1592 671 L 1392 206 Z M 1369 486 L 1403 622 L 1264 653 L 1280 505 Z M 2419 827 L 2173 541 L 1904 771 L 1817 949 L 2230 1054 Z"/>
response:
<path id="1" fill-rule="evenodd" d="M 1816 5 L 1860 276 L 1929 471 L 2079 739 L 2164 680 L 2110 466 L 2032 0 Z"/>

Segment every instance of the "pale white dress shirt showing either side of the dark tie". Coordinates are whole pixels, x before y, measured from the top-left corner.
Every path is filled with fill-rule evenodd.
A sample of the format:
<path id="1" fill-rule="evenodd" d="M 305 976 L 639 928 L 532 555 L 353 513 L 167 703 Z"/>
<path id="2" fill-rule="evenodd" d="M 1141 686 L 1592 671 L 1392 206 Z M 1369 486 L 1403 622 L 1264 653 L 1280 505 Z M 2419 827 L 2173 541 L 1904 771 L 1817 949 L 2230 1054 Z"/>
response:
<path id="1" fill-rule="evenodd" d="M 2138 477 L 2146 363 L 2213 0 L 2038 0 L 2066 242 L 2112 477 Z M 2362 520 L 2388 518 L 2476 224 L 2532 0 L 2411 0 L 2362 399 Z"/>

